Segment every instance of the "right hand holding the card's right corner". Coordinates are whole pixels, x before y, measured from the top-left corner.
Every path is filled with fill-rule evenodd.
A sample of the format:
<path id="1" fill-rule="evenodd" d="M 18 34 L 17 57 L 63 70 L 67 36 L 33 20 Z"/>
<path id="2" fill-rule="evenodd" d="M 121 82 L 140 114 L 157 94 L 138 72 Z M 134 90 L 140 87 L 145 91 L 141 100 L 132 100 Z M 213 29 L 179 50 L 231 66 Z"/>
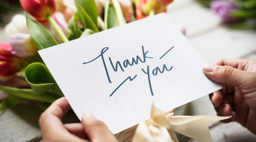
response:
<path id="1" fill-rule="evenodd" d="M 222 122 L 237 121 L 256 134 L 256 60 L 224 59 L 205 65 L 203 71 L 226 87 L 210 94 L 219 116 L 231 116 Z"/>

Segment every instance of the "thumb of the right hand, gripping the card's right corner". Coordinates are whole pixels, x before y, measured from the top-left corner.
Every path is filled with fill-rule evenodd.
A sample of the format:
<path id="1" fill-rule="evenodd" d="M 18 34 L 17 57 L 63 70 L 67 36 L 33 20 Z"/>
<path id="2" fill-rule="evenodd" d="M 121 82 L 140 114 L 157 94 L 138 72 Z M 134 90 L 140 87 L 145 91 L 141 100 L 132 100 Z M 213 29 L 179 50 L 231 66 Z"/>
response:
<path id="1" fill-rule="evenodd" d="M 247 72 L 235 69 L 230 66 L 204 65 L 204 74 L 215 82 L 230 84 L 242 88 L 248 84 L 248 80 L 255 75 L 254 72 Z"/>

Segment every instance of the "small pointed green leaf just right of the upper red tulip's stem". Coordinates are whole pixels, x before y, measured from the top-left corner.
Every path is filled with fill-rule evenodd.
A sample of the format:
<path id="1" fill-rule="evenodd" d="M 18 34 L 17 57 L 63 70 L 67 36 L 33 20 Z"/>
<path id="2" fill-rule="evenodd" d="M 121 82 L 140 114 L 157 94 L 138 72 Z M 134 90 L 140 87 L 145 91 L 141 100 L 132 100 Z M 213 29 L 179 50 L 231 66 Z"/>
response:
<path id="1" fill-rule="evenodd" d="M 74 14 L 74 16 L 69 20 L 68 23 L 68 34 L 69 40 L 74 40 L 74 39 L 78 39 L 83 31 L 78 27 L 76 20 L 78 20 L 78 13 Z"/>

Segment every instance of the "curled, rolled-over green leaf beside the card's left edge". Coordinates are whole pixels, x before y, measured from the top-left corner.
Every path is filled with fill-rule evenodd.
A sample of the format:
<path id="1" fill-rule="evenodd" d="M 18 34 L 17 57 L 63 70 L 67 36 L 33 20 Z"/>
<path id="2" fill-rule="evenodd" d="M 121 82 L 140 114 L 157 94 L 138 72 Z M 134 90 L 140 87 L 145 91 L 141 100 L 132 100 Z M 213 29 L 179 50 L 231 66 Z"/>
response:
<path id="1" fill-rule="evenodd" d="M 59 96 L 64 96 L 48 68 L 41 63 L 28 65 L 25 71 L 25 78 L 36 94 L 52 89 Z"/>

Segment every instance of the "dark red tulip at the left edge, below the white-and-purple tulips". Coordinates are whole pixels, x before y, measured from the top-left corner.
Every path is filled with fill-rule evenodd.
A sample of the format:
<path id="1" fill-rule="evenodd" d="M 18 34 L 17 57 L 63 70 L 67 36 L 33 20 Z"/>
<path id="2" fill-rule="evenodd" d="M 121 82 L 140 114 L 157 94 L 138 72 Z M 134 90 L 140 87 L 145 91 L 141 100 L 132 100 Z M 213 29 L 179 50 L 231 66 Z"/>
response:
<path id="1" fill-rule="evenodd" d="M 0 75 L 8 76 L 21 69 L 23 58 L 12 54 L 11 45 L 0 43 Z"/>

